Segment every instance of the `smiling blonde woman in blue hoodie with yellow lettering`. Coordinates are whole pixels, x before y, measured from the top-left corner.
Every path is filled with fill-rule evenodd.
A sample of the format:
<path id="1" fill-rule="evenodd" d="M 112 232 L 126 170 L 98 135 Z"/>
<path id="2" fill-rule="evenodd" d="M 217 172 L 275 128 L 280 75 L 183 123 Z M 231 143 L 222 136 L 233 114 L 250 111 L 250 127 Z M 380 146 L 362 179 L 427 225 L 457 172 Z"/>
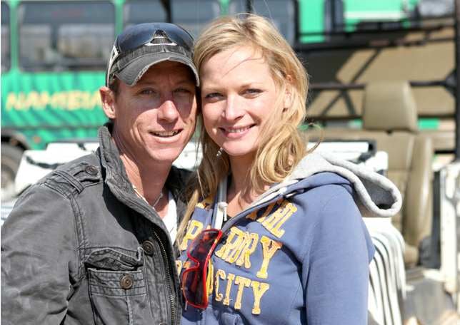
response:
<path id="1" fill-rule="evenodd" d="M 194 61 L 203 160 L 179 227 L 183 324 L 366 324 L 374 246 L 361 214 L 396 213 L 396 187 L 306 153 L 306 71 L 266 19 L 217 19 Z"/>

